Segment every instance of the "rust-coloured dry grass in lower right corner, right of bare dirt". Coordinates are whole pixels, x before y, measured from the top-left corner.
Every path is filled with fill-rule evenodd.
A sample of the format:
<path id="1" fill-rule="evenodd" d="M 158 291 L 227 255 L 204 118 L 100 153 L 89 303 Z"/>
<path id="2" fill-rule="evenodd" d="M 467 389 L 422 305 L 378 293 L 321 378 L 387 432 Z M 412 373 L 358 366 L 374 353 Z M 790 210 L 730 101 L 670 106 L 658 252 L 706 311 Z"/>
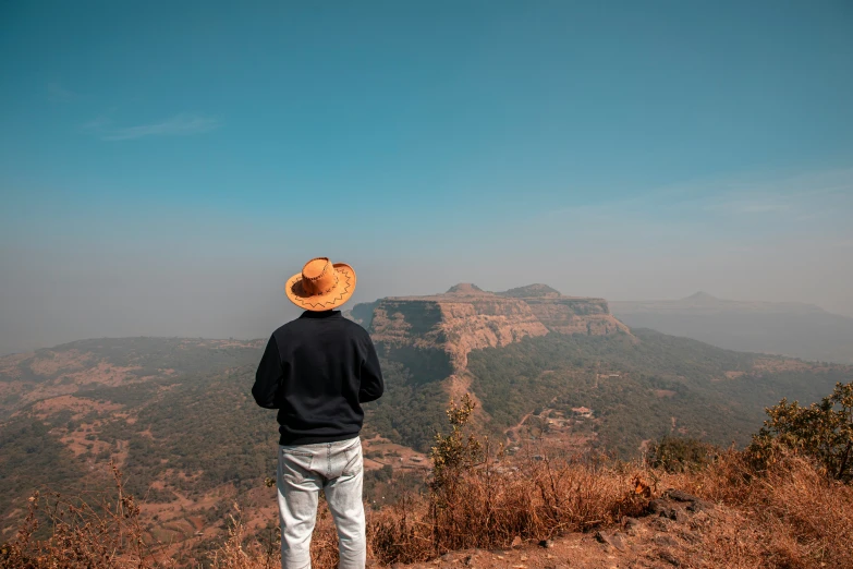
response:
<path id="1" fill-rule="evenodd" d="M 685 567 L 853 567 L 853 486 L 813 459 L 780 450 L 756 471 L 747 452 L 730 450 L 666 482 L 726 507 L 682 552 Z"/>

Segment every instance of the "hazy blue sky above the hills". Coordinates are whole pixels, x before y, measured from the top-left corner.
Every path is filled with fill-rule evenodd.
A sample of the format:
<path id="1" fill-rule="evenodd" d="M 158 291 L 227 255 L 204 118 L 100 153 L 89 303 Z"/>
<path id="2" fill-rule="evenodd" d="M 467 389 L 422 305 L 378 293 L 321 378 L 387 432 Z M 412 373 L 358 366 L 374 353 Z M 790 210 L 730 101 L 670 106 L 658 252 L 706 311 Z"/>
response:
<path id="1" fill-rule="evenodd" d="M 851 29 L 846 1 L 4 2 L 0 353 L 266 336 L 316 255 L 356 300 L 853 314 Z"/>

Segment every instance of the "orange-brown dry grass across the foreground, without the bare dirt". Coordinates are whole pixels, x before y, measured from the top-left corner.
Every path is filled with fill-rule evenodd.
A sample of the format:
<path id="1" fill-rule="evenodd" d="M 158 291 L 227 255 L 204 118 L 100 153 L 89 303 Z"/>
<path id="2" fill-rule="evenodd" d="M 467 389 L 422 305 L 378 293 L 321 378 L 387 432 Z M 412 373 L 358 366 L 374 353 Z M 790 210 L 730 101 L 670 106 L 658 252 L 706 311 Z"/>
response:
<path id="1" fill-rule="evenodd" d="M 158 557 L 157 544 L 141 540 L 138 509 L 121 495 L 118 473 L 117 481 L 118 496 L 98 511 L 77 505 L 65 507 L 63 517 L 54 505 L 46 541 L 33 538 L 36 517 L 31 514 L 19 537 L 3 546 L 0 567 L 170 566 L 170 559 Z M 795 455 L 759 472 L 739 451 L 680 474 L 588 457 L 485 462 L 461 475 L 448 507 L 437 508 L 434 495 L 409 495 L 369 512 L 368 558 L 383 565 L 424 561 L 453 549 L 507 548 L 516 536 L 541 540 L 616 525 L 625 516 L 642 514 L 648 499 L 669 487 L 717 506 L 709 523 L 685 526 L 693 538 L 671 552 L 682 567 L 853 567 L 853 487 Z M 206 561 L 218 569 L 271 569 L 279 559 L 277 540 L 251 534 L 237 513 L 229 538 Z M 338 560 L 325 505 L 312 560 L 317 569 Z"/>

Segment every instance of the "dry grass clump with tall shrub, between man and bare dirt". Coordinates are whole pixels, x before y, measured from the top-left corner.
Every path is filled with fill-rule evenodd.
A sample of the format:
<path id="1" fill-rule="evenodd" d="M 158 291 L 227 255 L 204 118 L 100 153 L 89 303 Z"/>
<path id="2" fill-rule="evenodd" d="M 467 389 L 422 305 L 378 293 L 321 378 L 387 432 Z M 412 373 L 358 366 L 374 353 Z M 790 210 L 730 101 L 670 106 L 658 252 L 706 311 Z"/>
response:
<path id="1" fill-rule="evenodd" d="M 410 497 L 370 520 L 373 555 L 380 562 L 427 560 L 444 552 L 508 547 L 638 514 L 637 469 L 590 457 L 553 460 L 544 451 L 521 460 L 493 457 L 487 441 L 463 434 L 470 397 L 451 402 L 451 433 L 437 435 L 427 497 Z M 535 460 L 538 459 L 538 460 Z"/>

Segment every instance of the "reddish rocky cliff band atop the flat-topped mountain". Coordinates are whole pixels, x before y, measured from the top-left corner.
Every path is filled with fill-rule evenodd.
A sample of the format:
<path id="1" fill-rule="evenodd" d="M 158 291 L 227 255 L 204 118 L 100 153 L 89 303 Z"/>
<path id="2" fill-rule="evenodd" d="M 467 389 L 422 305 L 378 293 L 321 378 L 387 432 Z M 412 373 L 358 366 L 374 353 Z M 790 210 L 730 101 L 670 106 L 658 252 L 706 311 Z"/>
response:
<path id="1" fill-rule="evenodd" d="M 429 367 L 443 377 L 462 372 L 472 350 L 507 346 L 527 336 L 630 334 L 604 299 L 563 296 L 545 284 L 493 293 L 461 283 L 443 294 L 358 304 L 350 317 L 370 330 L 386 356 L 417 358 L 418 368 L 427 358 Z"/>

